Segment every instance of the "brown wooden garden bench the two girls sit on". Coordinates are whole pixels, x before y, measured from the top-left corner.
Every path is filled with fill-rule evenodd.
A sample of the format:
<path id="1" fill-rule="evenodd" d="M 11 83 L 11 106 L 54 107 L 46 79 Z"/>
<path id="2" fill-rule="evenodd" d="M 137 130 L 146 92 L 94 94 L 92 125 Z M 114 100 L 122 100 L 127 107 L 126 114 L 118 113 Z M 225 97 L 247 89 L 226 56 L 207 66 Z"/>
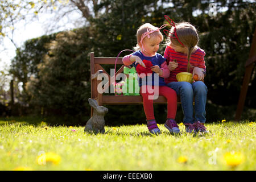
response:
<path id="1" fill-rule="evenodd" d="M 105 71 L 104 68 L 102 68 L 102 64 L 111 64 L 113 65 L 112 68 L 114 68 L 116 57 L 94 57 L 94 52 L 90 53 L 90 74 L 91 74 L 91 98 L 96 100 L 98 102 L 98 105 L 122 105 L 122 104 L 143 104 L 142 96 L 105 96 L 104 94 L 98 93 L 97 87 L 99 82 L 101 80 L 97 80 L 97 76 L 103 72 L 108 75 L 109 82 L 106 84 L 105 89 L 109 89 L 109 86 L 111 85 L 110 75 L 108 72 Z M 118 73 L 123 72 L 123 65 L 122 57 L 119 57 L 117 60 L 117 65 L 122 65 L 121 68 L 118 69 L 118 71 L 115 73 L 116 75 Z M 127 67 L 127 66 L 126 66 Z M 154 104 L 167 104 L 167 100 L 164 96 L 159 96 L 158 99 L 154 100 Z M 178 97 L 178 104 L 180 104 L 180 98 Z M 93 109 L 91 109 L 91 115 L 93 114 Z"/>

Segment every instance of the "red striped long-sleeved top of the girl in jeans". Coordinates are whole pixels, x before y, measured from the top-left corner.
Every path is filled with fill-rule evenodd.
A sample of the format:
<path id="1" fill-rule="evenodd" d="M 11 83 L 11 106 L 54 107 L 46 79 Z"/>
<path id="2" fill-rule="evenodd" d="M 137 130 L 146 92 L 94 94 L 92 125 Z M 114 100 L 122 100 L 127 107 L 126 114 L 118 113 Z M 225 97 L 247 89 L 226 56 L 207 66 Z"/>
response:
<path id="1" fill-rule="evenodd" d="M 204 61 L 205 52 L 203 49 L 198 48 L 195 52 L 192 53 L 190 58 L 190 64 L 193 67 L 203 68 L 206 71 L 205 61 Z M 172 47 L 167 46 L 164 51 L 164 57 L 166 58 L 167 63 L 170 61 L 177 60 L 178 67 L 174 69 L 174 71 L 170 72 L 170 77 L 164 78 L 164 81 L 168 84 L 168 82 L 177 81 L 176 75 L 180 72 L 187 72 L 187 54 L 176 52 Z"/>

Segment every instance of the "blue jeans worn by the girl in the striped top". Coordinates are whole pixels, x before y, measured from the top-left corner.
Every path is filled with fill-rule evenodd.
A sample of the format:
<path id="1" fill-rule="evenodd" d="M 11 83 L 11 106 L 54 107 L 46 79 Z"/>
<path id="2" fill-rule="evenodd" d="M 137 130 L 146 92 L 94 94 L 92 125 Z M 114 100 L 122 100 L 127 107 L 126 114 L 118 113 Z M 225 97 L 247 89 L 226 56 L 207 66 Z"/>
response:
<path id="1" fill-rule="evenodd" d="M 205 104 L 207 100 L 207 86 L 203 81 L 189 82 L 170 82 L 167 84 L 174 89 L 177 96 L 180 96 L 181 107 L 183 110 L 184 123 L 205 122 Z M 195 118 L 193 118 L 193 97 L 195 96 Z"/>

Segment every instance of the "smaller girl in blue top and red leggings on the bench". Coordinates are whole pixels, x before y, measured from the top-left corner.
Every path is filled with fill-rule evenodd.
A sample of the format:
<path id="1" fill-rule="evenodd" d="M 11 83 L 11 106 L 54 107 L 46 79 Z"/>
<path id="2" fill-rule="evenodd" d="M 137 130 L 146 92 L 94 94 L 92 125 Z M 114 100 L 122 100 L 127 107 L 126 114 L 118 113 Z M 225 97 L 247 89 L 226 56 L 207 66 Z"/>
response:
<path id="1" fill-rule="evenodd" d="M 159 44 L 163 40 L 163 35 L 159 31 L 161 28 L 163 28 L 163 26 L 157 28 L 150 23 L 143 24 L 139 27 L 137 31 L 137 47 L 134 48 L 136 52 L 123 57 L 123 64 L 132 64 L 135 68 L 137 68 L 139 64 L 140 67 L 142 66 L 146 68 L 149 61 L 149 65 L 151 65 L 148 69 L 151 70 L 152 75 L 148 75 L 146 81 L 142 81 L 143 74 L 139 75 L 139 77 L 141 77 L 139 78 L 139 86 L 141 87 L 140 93 L 143 97 L 143 107 L 147 118 L 148 131 L 152 134 L 160 134 L 160 130 L 154 117 L 153 100 L 150 99 L 157 94 L 155 93 L 155 90 L 158 90 L 159 95 L 166 97 L 168 102 L 167 120 L 164 126 L 171 133 L 179 133 L 179 126 L 177 126 L 177 123 L 174 120 L 177 110 L 177 96 L 175 91 L 168 88 L 164 82 L 164 78 L 170 76 L 170 71 L 167 67 L 166 59 L 157 53 Z M 158 74 L 159 76 L 155 77 L 155 74 Z M 157 78 L 158 80 L 154 80 L 154 78 Z"/>

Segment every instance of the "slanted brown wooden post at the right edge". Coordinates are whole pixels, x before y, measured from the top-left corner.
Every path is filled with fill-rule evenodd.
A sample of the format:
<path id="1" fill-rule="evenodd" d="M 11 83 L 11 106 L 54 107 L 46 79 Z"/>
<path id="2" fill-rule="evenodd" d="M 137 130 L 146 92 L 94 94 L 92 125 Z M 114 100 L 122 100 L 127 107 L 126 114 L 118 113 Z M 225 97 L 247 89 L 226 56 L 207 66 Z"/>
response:
<path id="1" fill-rule="evenodd" d="M 243 77 L 243 85 L 240 92 L 239 101 L 237 104 L 237 111 L 236 111 L 236 117 L 235 117 L 236 121 L 240 121 L 241 119 L 243 106 L 245 105 L 246 93 L 247 93 L 248 85 L 251 78 L 251 72 L 253 71 L 255 61 L 256 61 L 256 28 L 254 30 L 253 42 L 251 43 L 249 59 L 245 63 L 245 77 Z"/>

